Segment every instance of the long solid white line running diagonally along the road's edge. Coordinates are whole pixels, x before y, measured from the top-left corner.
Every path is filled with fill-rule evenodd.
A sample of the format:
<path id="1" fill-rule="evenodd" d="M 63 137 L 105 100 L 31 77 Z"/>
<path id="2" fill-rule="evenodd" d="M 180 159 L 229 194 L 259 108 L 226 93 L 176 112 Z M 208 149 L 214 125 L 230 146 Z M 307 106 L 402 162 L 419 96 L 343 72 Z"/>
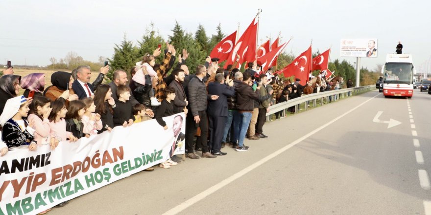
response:
<path id="1" fill-rule="evenodd" d="M 174 208 L 170 209 L 169 211 L 165 212 L 164 215 L 175 215 L 178 214 L 180 212 L 182 212 L 183 210 L 187 209 L 188 207 L 192 206 L 194 203 L 204 199 L 205 197 L 209 196 L 210 194 L 213 194 L 214 192 L 220 190 L 221 188 L 223 188 L 224 186 L 228 185 L 229 183 L 235 181 L 236 179 L 240 178 L 241 176 L 245 175 L 248 172 L 251 172 L 252 170 L 258 168 L 259 166 L 261 166 L 262 164 L 266 163 L 268 160 L 276 157 L 277 155 L 287 151 L 288 149 L 294 147 L 295 145 L 297 145 L 298 143 L 304 141 L 305 139 L 309 138 L 311 135 L 317 133 L 318 131 L 328 127 L 329 125 L 333 124 L 334 122 L 336 122 L 337 120 L 341 119 L 342 117 L 344 117 L 345 115 L 351 113 L 352 111 L 358 109 L 359 107 L 361 107 L 362 105 L 364 105 L 365 103 L 371 101 L 372 99 L 376 98 L 377 96 L 379 96 L 380 94 L 377 94 L 375 96 L 373 96 L 372 98 L 368 99 L 367 101 L 359 104 L 357 107 L 350 109 L 349 111 L 339 115 L 338 117 L 336 117 L 335 119 L 329 121 L 328 123 L 320 126 L 317 129 L 312 130 L 310 133 L 300 137 L 299 139 L 291 142 L 290 144 L 286 145 L 285 147 L 272 152 L 271 154 L 267 155 L 266 157 L 262 158 L 261 160 L 257 161 L 256 163 L 242 169 L 241 171 L 231 175 L 230 177 L 218 182 L 217 184 L 213 185 L 212 187 L 208 188 L 205 191 L 202 191 L 201 193 L 193 196 L 192 198 L 184 201 L 183 203 L 175 206 Z"/>

